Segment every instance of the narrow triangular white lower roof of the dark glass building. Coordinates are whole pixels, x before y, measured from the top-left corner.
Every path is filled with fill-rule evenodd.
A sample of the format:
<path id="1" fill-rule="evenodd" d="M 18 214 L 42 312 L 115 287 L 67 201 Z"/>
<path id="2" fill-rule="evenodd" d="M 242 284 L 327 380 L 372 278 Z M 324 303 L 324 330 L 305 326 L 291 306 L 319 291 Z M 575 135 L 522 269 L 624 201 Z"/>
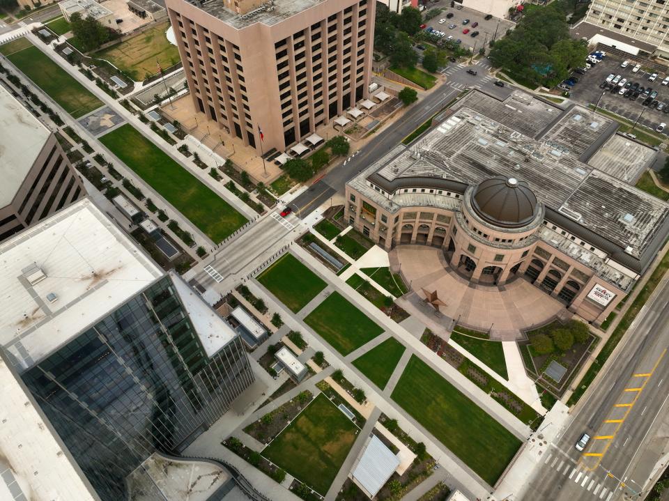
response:
<path id="1" fill-rule="evenodd" d="M 174 282 L 176 292 L 190 316 L 190 321 L 197 331 L 205 352 L 209 357 L 215 355 L 218 350 L 232 341 L 237 333 L 179 275 L 169 272 L 169 276 Z"/>

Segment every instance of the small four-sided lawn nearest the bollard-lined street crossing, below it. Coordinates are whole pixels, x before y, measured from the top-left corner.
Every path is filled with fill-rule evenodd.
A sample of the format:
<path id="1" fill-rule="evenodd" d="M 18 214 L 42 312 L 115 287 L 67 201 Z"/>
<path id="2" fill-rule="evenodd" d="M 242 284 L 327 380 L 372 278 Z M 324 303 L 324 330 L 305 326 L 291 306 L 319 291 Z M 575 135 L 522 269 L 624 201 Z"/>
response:
<path id="1" fill-rule="evenodd" d="M 297 313 L 323 291 L 325 282 L 300 263 L 293 254 L 286 254 L 258 277 L 268 291 Z"/>

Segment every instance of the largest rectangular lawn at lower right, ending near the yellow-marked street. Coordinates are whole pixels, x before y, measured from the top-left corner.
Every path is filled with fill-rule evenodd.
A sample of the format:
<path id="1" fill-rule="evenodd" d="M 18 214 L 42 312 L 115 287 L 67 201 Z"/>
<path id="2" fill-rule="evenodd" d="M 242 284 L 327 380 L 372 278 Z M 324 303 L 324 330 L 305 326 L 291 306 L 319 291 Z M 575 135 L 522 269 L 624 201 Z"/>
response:
<path id="1" fill-rule="evenodd" d="M 413 355 L 392 399 L 493 486 L 521 440 Z"/>

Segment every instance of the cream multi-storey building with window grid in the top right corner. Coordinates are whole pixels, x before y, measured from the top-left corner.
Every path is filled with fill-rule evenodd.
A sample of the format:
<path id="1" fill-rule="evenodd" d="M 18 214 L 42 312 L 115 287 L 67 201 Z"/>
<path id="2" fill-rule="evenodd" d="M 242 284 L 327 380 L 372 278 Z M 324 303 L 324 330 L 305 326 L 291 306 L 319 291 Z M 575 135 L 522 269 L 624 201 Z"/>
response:
<path id="1" fill-rule="evenodd" d="M 656 47 L 654 53 L 669 59 L 669 4 L 663 1 L 594 0 L 585 22 L 599 29 Z"/>

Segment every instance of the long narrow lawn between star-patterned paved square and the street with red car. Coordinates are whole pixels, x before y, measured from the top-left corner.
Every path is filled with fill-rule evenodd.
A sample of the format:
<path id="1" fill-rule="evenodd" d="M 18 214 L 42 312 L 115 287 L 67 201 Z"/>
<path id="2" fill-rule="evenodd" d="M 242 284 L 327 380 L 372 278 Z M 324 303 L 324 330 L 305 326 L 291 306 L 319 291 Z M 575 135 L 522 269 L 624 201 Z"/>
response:
<path id="1" fill-rule="evenodd" d="M 247 222 L 129 123 L 100 137 L 100 141 L 214 242 Z"/>

